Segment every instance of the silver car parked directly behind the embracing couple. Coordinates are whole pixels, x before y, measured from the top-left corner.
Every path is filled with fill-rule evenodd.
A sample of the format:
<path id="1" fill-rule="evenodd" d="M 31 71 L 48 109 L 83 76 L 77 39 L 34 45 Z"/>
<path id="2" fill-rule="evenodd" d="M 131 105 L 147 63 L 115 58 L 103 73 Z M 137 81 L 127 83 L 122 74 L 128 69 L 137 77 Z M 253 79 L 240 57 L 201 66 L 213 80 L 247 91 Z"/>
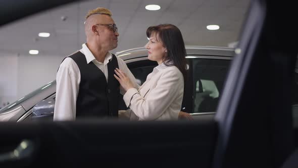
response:
<path id="1" fill-rule="evenodd" d="M 188 75 L 181 110 L 190 113 L 194 119 L 198 115 L 201 118 L 202 115 L 213 117 L 234 49 L 198 46 L 185 48 Z M 139 85 L 157 66 L 157 62 L 148 60 L 145 48 L 118 52 L 116 56 L 125 61 Z M 0 121 L 53 120 L 55 97 L 56 80 L 2 108 Z M 126 109 L 123 100 L 120 101 L 119 109 Z"/>

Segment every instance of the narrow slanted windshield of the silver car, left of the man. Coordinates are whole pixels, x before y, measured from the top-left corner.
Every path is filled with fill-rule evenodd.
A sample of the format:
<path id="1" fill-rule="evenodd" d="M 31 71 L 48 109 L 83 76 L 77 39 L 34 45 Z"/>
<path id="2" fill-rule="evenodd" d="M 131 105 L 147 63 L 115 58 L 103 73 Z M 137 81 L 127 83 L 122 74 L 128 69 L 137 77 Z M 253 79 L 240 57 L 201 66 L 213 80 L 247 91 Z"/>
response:
<path id="1" fill-rule="evenodd" d="M 27 99 L 29 99 L 29 98 L 31 98 L 31 97 L 39 94 L 40 92 L 43 92 L 44 90 L 48 89 L 49 86 L 51 86 L 51 85 L 56 85 L 56 80 L 46 83 L 46 85 L 44 85 L 44 86 L 36 89 L 35 91 L 33 91 L 33 92 L 29 93 L 28 95 L 26 95 L 26 96 L 18 99 L 17 101 L 15 101 L 15 102 L 13 102 L 11 104 L 8 104 L 7 106 L 3 107 L 2 109 L 0 109 L 0 114 L 3 113 L 3 112 L 5 112 L 6 110 L 8 110 L 10 108 L 13 108 L 13 107 L 19 105 L 20 103 L 24 102 L 25 100 L 27 100 Z"/>

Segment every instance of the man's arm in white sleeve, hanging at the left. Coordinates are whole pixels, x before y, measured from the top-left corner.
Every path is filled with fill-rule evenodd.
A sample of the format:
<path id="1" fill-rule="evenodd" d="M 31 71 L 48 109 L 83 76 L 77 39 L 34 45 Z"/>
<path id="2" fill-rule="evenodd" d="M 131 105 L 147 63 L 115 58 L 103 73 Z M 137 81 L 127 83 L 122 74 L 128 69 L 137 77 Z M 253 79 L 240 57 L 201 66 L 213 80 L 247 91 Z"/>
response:
<path id="1" fill-rule="evenodd" d="M 56 82 L 54 121 L 75 120 L 80 72 L 77 64 L 71 58 L 66 58 L 61 63 Z"/>

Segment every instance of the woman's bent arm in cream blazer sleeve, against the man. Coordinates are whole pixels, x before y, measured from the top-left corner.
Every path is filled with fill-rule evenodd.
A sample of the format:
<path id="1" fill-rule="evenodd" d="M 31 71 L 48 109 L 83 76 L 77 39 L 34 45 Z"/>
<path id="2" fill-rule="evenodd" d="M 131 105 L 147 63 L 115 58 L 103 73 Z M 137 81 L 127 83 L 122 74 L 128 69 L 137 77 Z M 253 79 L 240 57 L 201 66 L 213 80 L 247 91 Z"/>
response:
<path id="1" fill-rule="evenodd" d="M 153 120 L 161 116 L 174 100 L 183 96 L 183 87 L 182 73 L 176 68 L 171 68 L 163 72 L 156 87 L 151 88 L 152 91 L 146 98 L 136 89 L 127 87 L 123 99 L 141 120 Z"/>

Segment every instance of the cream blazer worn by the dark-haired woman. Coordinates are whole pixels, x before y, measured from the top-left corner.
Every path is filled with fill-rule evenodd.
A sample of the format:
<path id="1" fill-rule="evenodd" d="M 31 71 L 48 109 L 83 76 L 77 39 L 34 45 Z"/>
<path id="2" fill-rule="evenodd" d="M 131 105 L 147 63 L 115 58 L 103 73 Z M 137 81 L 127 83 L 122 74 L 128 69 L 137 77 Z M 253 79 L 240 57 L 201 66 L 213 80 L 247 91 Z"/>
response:
<path id="1" fill-rule="evenodd" d="M 137 90 L 129 89 L 123 96 L 131 109 L 131 120 L 177 120 L 183 99 L 184 79 L 176 66 L 164 63 L 148 74 Z"/>

